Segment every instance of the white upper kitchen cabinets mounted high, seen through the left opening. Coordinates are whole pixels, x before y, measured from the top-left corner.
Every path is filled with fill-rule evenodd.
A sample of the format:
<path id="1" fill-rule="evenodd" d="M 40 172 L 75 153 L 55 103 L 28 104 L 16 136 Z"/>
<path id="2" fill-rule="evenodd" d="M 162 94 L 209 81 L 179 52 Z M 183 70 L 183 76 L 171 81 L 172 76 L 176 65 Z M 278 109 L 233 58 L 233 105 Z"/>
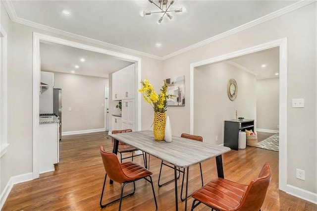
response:
<path id="1" fill-rule="evenodd" d="M 134 99 L 135 64 L 112 73 L 112 100 Z"/>

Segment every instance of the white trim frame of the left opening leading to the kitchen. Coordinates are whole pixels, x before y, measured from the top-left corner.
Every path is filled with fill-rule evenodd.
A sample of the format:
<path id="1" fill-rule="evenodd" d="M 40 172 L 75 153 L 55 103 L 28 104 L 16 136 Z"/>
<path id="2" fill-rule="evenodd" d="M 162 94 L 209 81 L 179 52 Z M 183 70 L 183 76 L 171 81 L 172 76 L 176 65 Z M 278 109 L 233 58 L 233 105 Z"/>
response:
<path id="1" fill-rule="evenodd" d="M 40 102 L 40 72 L 41 72 L 41 63 L 40 63 L 40 42 L 51 42 L 56 44 L 61 44 L 65 46 L 70 46 L 78 49 L 83 49 L 87 51 L 104 53 L 107 55 L 114 56 L 120 60 L 135 62 L 135 80 L 141 81 L 141 58 L 124 54 L 109 51 L 106 49 L 89 46 L 82 43 L 77 43 L 70 40 L 64 40 L 61 38 L 40 34 L 33 32 L 33 169 L 32 176 L 33 179 L 39 178 L 39 102 Z M 135 128 L 136 130 L 141 130 L 141 95 L 137 90 L 141 89 L 140 83 L 135 83 Z"/>

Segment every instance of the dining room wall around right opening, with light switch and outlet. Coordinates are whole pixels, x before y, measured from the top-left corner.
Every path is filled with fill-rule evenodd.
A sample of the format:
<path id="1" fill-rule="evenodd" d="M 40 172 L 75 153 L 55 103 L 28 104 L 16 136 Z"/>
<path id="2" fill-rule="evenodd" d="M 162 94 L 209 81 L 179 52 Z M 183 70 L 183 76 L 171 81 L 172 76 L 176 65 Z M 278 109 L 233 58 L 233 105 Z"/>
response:
<path id="1" fill-rule="evenodd" d="M 317 193 L 316 174 L 316 2 L 205 46 L 163 61 L 163 78 L 185 75 L 190 89 L 190 64 L 287 38 L 287 184 Z M 238 84 L 239 85 L 239 84 Z M 186 99 L 190 99 L 186 92 Z M 197 96 L 195 96 L 196 98 Z M 194 98 L 194 101 L 195 101 Z M 305 99 L 305 108 L 291 107 L 291 99 Z M 188 100 L 187 100 L 188 102 Z M 190 132 L 190 107 L 168 107 L 173 135 Z M 195 114 L 194 114 L 195 115 Z M 174 121 L 182 116 L 182 121 Z M 206 124 L 209 124 L 206 121 Z M 210 125 L 213 128 L 215 125 Z M 194 126 L 195 130 L 195 126 Z M 296 179 L 296 168 L 306 180 Z M 308 176 L 309 175 L 309 176 Z M 294 190 L 294 189 L 293 189 Z"/>

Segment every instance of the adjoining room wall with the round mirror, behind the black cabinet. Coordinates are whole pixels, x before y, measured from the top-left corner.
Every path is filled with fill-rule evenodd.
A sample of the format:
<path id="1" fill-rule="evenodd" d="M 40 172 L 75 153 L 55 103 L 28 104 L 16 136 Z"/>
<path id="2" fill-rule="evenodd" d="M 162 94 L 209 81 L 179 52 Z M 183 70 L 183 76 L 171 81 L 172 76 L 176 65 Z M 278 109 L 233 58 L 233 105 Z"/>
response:
<path id="1" fill-rule="evenodd" d="M 227 95 L 231 78 L 238 85 L 234 101 Z M 236 110 L 238 117 L 256 120 L 255 76 L 225 62 L 196 68 L 194 96 L 194 134 L 203 136 L 204 142 L 223 144 L 224 120 L 235 119 Z"/>

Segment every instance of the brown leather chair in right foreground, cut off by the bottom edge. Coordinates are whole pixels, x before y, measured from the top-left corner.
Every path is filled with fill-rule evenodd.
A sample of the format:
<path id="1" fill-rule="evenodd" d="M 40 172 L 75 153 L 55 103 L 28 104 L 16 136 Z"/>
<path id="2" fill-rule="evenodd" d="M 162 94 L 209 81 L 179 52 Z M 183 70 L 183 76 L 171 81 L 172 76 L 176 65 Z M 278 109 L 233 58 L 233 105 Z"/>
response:
<path id="1" fill-rule="evenodd" d="M 259 177 L 249 185 L 222 178 L 213 179 L 193 193 L 195 200 L 191 210 L 203 203 L 216 211 L 261 211 L 271 177 L 271 169 L 265 163 Z"/>

